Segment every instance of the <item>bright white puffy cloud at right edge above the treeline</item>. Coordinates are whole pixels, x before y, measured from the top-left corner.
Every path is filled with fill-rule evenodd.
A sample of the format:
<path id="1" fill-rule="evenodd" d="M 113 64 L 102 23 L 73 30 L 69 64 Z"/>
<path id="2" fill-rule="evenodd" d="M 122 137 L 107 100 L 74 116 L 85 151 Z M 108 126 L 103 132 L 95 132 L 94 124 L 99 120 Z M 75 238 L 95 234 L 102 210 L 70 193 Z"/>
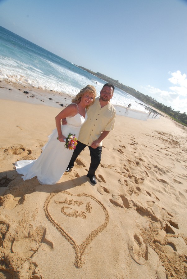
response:
<path id="1" fill-rule="evenodd" d="M 181 74 L 180 71 L 171 73 L 171 78 L 168 80 L 175 86 L 169 87 L 168 91 L 155 88 L 148 85 L 145 89 L 148 91 L 148 95 L 158 102 L 171 106 L 175 110 L 179 110 L 181 113 L 187 112 L 187 78 L 186 74 Z"/>

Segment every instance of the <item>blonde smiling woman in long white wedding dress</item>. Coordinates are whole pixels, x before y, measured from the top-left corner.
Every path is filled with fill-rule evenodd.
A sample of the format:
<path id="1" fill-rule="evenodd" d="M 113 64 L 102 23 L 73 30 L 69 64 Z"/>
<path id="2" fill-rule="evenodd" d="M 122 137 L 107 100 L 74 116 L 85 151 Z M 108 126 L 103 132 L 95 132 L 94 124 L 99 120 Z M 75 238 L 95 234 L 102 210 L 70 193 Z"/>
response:
<path id="1" fill-rule="evenodd" d="M 71 133 L 78 139 L 80 128 L 87 120 L 86 108 L 93 104 L 96 89 L 87 85 L 75 96 L 72 103 L 64 108 L 55 118 L 56 129 L 49 136 L 43 152 L 37 160 L 15 162 L 16 171 L 24 180 L 37 176 L 40 184 L 56 184 L 64 174 L 74 150 L 65 147 L 66 137 Z M 61 125 L 66 118 L 67 125 Z"/>

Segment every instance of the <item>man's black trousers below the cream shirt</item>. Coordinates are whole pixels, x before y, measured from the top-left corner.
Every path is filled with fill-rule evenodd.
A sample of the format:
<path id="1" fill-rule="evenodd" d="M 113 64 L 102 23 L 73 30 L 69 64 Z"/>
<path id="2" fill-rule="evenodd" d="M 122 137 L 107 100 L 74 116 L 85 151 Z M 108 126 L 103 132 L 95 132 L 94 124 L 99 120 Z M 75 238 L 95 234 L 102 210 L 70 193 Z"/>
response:
<path id="1" fill-rule="evenodd" d="M 71 157 L 71 160 L 69 162 L 68 168 L 73 168 L 76 158 L 79 156 L 79 154 L 83 151 L 83 149 L 86 147 L 86 144 L 83 144 L 82 142 L 78 141 L 78 144 L 73 151 L 73 155 Z M 100 162 L 101 162 L 101 153 L 102 153 L 102 146 L 98 146 L 97 148 L 92 148 L 88 146 L 89 153 L 91 157 L 91 163 L 89 166 L 88 176 L 92 177 L 95 175 L 95 171 L 97 170 Z"/>

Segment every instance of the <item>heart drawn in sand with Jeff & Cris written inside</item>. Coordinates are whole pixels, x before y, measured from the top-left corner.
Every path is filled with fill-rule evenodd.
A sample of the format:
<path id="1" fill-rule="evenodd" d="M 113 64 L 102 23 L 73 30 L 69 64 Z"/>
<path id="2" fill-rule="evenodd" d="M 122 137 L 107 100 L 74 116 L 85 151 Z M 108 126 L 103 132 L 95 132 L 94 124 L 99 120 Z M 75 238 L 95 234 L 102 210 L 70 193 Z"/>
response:
<path id="1" fill-rule="evenodd" d="M 106 208 L 91 195 L 62 191 L 48 195 L 44 211 L 53 226 L 75 249 L 75 266 L 80 268 L 89 243 L 108 224 Z"/>

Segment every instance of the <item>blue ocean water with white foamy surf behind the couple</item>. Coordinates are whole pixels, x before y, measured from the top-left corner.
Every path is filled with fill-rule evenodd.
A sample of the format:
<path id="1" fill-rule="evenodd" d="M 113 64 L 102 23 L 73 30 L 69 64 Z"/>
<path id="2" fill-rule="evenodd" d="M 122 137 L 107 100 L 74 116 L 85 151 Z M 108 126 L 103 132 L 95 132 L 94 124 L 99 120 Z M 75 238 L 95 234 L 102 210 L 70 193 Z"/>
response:
<path id="1" fill-rule="evenodd" d="M 105 74 L 105 73 L 103 73 Z M 98 96 L 106 81 L 0 26 L 0 80 L 75 96 L 87 84 Z M 113 105 L 148 112 L 139 100 L 115 87 Z M 141 102 L 142 103 L 142 102 Z M 142 103 L 143 104 L 143 103 Z"/>

